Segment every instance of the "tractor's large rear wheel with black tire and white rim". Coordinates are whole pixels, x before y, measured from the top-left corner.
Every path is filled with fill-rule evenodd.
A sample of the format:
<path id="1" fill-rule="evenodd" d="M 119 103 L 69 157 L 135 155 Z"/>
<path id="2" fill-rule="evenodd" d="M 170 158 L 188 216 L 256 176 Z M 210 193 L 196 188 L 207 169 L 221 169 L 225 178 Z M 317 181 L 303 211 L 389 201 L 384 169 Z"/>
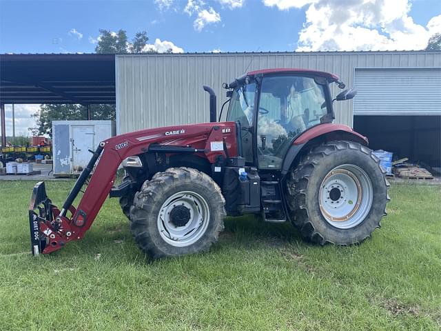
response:
<path id="1" fill-rule="evenodd" d="M 320 245 L 349 245 L 380 228 L 388 186 L 369 148 L 332 141 L 309 151 L 291 170 L 287 199 L 302 237 Z"/>

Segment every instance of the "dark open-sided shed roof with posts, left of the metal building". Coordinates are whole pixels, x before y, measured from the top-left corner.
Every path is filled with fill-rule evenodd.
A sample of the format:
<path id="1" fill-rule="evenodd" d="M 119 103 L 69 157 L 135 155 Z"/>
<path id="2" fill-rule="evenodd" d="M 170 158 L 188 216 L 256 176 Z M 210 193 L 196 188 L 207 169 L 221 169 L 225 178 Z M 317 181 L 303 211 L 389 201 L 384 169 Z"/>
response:
<path id="1" fill-rule="evenodd" d="M 5 104 L 115 103 L 113 54 L 0 54 L 1 145 Z"/>

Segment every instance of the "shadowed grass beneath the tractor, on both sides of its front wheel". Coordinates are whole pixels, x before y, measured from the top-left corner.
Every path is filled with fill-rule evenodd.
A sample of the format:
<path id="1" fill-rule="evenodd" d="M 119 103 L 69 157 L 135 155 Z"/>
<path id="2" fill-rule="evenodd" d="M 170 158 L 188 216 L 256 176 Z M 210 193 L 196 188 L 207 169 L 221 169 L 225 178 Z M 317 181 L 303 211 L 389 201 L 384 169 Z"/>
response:
<path id="1" fill-rule="evenodd" d="M 207 254 L 223 255 L 231 254 L 232 250 L 252 252 L 262 248 L 284 248 L 295 241 L 301 242 L 302 239 L 289 222 L 265 223 L 254 215 L 227 217 L 225 230 L 220 233 L 218 243 Z M 81 241 L 72 241 L 63 250 L 54 252 L 51 256 L 55 259 L 64 259 L 75 254 L 85 259 L 106 259 L 110 263 L 115 261 L 139 265 L 155 263 L 137 247 L 129 226 L 123 219 L 118 223 L 92 228 Z"/>

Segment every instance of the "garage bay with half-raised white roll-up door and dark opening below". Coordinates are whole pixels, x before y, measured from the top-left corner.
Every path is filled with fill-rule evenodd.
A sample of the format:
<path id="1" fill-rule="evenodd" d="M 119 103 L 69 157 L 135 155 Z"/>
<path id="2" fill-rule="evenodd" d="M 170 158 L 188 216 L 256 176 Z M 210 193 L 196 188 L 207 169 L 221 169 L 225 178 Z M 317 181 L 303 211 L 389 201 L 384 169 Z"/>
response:
<path id="1" fill-rule="evenodd" d="M 441 68 L 356 68 L 353 128 L 373 149 L 440 170 Z"/>

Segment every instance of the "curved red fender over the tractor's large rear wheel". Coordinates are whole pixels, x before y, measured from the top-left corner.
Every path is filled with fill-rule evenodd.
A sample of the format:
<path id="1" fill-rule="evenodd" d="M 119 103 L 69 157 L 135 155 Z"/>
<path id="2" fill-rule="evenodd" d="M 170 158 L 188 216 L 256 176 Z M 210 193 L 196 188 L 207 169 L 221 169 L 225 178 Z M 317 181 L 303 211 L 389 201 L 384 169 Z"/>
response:
<path id="1" fill-rule="evenodd" d="M 294 140 L 283 160 L 282 175 L 285 176 L 291 165 L 298 162 L 301 155 L 311 147 L 334 140 L 355 141 L 363 146 L 369 144 L 367 137 L 353 131 L 349 126 L 332 123 L 320 124 L 303 132 Z"/>

